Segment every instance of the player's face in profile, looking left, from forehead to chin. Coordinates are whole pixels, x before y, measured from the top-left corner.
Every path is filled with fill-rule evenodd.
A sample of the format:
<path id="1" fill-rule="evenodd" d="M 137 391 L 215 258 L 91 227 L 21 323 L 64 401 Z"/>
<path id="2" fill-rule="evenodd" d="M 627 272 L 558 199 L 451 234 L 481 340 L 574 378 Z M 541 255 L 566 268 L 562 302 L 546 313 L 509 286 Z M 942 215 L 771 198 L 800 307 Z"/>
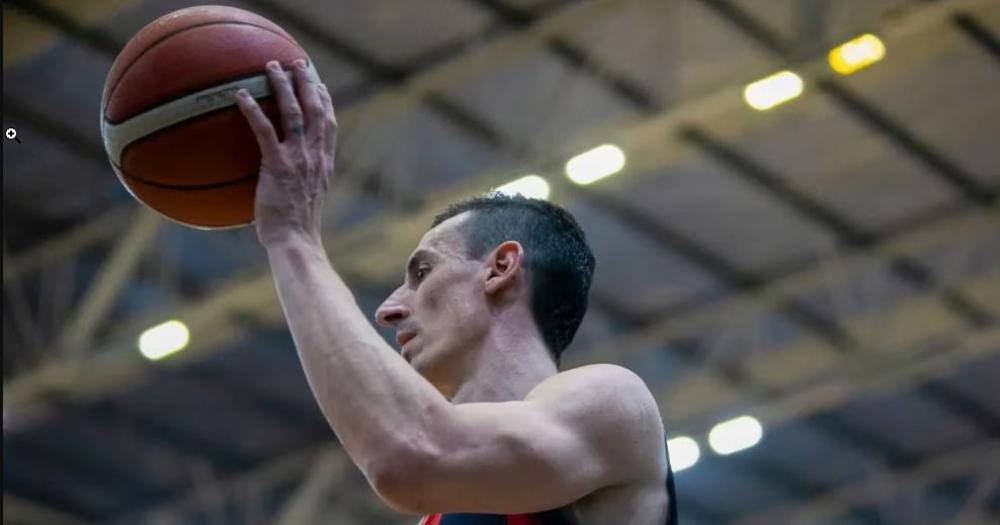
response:
<path id="1" fill-rule="evenodd" d="M 403 285 L 376 312 L 396 329 L 402 356 L 447 391 L 469 370 L 490 321 L 487 268 L 465 254 L 458 226 L 463 215 L 431 229 L 407 263 Z"/>

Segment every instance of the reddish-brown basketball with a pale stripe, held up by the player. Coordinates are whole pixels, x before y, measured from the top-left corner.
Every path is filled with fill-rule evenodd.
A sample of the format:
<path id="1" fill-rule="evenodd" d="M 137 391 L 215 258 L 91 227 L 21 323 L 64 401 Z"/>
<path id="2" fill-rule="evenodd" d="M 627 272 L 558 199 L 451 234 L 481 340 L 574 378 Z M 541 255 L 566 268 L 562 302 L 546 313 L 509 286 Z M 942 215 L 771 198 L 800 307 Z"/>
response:
<path id="1" fill-rule="evenodd" d="M 290 70 L 297 59 L 316 77 L 286 31 L 232 7 L 190 7 L 144 27 L 118 54 L 101 98 L 101 136 L 122 184 L 187 226 L 252 223 L 260 149 L 236 92 L 247 89 L 277 124 L 265 64 Z"/>

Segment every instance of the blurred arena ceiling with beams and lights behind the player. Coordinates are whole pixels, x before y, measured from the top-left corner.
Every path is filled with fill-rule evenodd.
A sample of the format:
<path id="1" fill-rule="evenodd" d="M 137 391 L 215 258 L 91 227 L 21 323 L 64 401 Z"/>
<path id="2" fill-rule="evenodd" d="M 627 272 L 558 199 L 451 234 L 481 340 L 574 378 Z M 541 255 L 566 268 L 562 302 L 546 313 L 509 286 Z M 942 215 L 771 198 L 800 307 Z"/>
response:
<path id="1" fill-rule="evenodd" d="M 437 211 L 518 181 L 588 235 L 564 366 L 648 383 L 682 523 L 1000 522 L 1000 2 L 221 3 L 334 94 L 327 248 L 368 314 Z M 3 522 L 412 524 L 321 417 L 253 231 L 110 169 L 112 61 L 193 4 L 3 2 Z"/>

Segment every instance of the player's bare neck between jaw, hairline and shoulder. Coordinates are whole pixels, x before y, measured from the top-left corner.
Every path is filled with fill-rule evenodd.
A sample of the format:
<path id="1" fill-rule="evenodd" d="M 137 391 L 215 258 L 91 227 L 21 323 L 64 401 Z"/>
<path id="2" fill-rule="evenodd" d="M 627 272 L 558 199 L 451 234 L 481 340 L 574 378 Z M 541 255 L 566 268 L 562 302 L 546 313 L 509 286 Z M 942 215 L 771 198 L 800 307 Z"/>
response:
<path id="1" fill-rule="evenodd" d="M 488 337 L 471 373 L 458 385 L 452 403 L 524 399 L 531 389 L 558 373 L 545 344 L 536 337 Z"/>

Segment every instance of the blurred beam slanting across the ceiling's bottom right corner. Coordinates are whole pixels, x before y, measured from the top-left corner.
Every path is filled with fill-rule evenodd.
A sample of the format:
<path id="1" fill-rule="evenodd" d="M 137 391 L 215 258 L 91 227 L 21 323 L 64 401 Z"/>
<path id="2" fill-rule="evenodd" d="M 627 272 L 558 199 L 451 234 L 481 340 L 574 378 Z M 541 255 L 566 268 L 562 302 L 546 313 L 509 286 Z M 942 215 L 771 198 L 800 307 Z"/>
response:
<path id="1" fill-rule="evenodd" d="M 772 523 L 820 524 L 852 507 L 875 504 L 888 495 L 919 492 L 935 481 L 953 476 L 1000 470 L 1000 443 L 986 441 L 922 461 L 910 468 L 883 469 L 867 479 L 831 490 L 813 500 L 781 506 L 733 522 L 733 525 Z"/>

